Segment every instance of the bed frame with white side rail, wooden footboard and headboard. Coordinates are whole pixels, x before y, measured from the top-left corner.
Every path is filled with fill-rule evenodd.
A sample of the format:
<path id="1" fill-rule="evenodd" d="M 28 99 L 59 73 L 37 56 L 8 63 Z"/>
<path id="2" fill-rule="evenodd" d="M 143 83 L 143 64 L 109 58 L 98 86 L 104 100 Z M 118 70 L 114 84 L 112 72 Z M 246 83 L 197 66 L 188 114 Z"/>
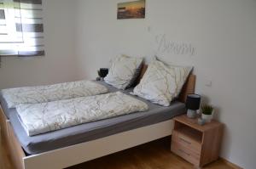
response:
<path id="1" fill-rule="evenodd" d="M 146 70 L 147 65 L 143 65 L 139 79 L 142 78 Z M 195 93 L 195 75 L 189 75 L 179 99 L 184 102 L 188 93 Z M 26 156 L 1 106 L 0 123 L 3 143 L 7 146 L 12 163 L 17 169 L 61 169 L 172 134 L 172 120 L 169 120 L 146 127 L 139 127 L 127 132 L 119 132 L 108 137 L 98 138 L 81 144 L 47 151 L 38 155 Z"/>

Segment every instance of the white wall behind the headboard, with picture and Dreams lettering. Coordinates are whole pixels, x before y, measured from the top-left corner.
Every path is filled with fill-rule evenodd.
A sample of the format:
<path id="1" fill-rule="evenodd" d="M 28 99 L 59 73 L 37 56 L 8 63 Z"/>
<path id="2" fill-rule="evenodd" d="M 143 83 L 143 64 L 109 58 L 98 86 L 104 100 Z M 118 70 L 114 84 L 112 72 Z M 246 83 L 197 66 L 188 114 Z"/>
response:
<path id="1" fill-rule="evenodd" d="M 247 169 L 256 166 L 256 1 L 147 0 L 145 20 L 116 20 L 119 0 L 78 0 L 76 54 L 80 78 L 119 54 L 153 56 L 195 65 L 197 93 L 217 107 L 224 122 L 221 156 Z M 160 52 L 155 36 L 191 43 L 195 55 Z M 206 84 L 212 81 L 212 87 Z"/>

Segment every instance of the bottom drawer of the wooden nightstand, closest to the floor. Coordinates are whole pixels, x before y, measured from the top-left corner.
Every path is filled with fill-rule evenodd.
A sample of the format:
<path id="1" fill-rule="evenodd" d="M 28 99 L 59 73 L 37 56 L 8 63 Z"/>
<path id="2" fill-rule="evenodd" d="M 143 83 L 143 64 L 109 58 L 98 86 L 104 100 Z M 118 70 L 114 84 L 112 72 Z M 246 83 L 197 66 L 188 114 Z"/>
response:
<path id="1" fill-rule="evenodd" d="M 184 160 L 189 161 L 195 166 L 199 166 L 200 164 L 200 155 L 195 154 L 195 152 L 190 149 L 186 149 L 181 144 L 177 144 L 176 142 L 172 142 L 171 150 L 176 155 L 181 156 Z"/>

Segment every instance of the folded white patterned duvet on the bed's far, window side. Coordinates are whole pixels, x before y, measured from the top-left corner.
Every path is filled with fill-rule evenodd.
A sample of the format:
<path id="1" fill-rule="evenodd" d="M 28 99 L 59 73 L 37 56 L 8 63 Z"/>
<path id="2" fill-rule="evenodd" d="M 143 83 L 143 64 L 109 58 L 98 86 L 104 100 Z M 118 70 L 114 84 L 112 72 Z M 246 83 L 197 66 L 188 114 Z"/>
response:
<path id="1" fill-rule="evenodd" d="M 108 88 L 96 82 L 78 81 L 47 86 L 9 88 L 3 89 L 2 93 L 8 107 L 15 108 L 19 104 L 38 104 L 108 93 Z"/>

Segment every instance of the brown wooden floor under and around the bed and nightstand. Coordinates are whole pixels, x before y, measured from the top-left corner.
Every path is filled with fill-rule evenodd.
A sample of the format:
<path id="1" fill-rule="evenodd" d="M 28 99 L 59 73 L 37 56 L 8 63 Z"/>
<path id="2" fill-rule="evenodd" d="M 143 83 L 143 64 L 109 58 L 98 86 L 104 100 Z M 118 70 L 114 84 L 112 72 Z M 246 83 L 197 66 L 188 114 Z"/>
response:
<path id="1" fill-rule="evenodd" d="M 127 149 L 113 155 L 108 155 L 94 161 L 69 167 L 68 169 L 193 169 L 191 164 L 183 161 L 170 152 L 170 138 L 163 138 L 135 148 Z M 9 155 L 1 144 L 1 169 L 14 169 L 9 161 Z M 206 169 L 233 169 L 224 161 L 218 160 L 205 166 Z"/>

